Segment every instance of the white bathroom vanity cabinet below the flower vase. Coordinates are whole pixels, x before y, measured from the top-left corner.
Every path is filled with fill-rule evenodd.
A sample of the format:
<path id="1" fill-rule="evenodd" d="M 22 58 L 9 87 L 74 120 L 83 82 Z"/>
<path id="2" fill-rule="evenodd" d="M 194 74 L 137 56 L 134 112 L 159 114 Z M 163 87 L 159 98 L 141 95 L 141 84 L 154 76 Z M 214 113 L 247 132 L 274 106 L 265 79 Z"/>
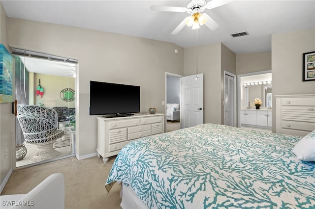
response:
<path id="1" fill-rule="evenodd" d="M 271 109 L 241 109 L 241 124 L 257 127 L 272 127 Z"/>

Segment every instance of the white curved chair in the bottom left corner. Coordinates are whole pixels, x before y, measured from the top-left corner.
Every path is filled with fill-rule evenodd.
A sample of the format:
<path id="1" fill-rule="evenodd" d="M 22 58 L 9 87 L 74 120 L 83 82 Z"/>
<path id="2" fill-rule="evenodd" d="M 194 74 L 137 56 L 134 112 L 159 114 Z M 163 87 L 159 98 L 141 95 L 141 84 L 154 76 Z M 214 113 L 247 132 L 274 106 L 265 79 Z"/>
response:
<path id="1" fill-rule="evenodd" d="M 0 196 L 1 209 L 64 209 L 64 177 L 52 174 L 27 194 Z"/>

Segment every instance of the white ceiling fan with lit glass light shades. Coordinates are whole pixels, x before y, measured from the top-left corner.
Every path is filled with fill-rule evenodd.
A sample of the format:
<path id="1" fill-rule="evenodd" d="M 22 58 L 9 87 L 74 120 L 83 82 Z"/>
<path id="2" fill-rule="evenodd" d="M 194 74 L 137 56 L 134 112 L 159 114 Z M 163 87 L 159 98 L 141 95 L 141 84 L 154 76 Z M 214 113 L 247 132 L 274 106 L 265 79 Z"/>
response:
<path id="1" fill-rule="evenodd" d="M 177 6 L 161 6 L 161 5 L 152 5 L 150 8 L 153 11 L 165 11 L 165 12 L 188 12 L 190 16 L 186 17 L 174 30 L 171 34 L 175 35 L 181 31 L 185 25 L 192 26 L 192 29 L 197 29 L 202 25 L 206 25 L 211 30 L 216 30 L 219 25 L 214 21 L 208 14 L 203 13 L 205 9 L 213 9 L 218 6 L 224 5 L 229 1 L 225 0 L 191 0 L 188 2 L 186 7 L 177 7 Z"/>

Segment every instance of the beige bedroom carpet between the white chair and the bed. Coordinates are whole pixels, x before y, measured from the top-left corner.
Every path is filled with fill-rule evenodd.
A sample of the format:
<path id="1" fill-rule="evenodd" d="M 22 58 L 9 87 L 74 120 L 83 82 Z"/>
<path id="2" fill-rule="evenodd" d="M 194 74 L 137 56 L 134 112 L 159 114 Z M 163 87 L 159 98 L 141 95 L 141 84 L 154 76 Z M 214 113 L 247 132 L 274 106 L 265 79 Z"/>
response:
<path id="1" fill-rule="evenodd" d="M 77 160 L 69 157 L 42 165 L 15 170 L 1 195 L 24 194 L 53 173 L 63 173 L 65 209 L 121 209 L 120 189 L 115 183 L 110 192 L 105 189 L 116 156 L 103 163 L 98 157 Z M 53 197 L 52 197 L 53 198 Z"/>

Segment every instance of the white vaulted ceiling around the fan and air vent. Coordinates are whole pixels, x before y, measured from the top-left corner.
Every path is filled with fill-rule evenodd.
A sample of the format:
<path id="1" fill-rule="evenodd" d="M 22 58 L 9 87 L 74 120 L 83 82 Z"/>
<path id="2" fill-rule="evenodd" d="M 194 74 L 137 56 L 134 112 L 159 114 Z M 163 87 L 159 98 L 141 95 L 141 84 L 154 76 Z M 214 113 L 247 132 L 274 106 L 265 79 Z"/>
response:
<path id="1" fill-rule="evenodd" d="M 219 0 L 220 1 L 220 0 Z M 8 17 L 76 26 L 195 46 L 195 30 L 171 32 L 187 12 L 152 11 L 151 5 L 186 7 L 189 0 L 1 0 Z M 235 53 L 271 51 L 271 35 L 315 27 L 314 0 L 230 0 L 205 9 L 220 27 L 198 29 L 198 45 L 223 43 Z M 230 34 L 249 35 L 232 38 Z"/>

